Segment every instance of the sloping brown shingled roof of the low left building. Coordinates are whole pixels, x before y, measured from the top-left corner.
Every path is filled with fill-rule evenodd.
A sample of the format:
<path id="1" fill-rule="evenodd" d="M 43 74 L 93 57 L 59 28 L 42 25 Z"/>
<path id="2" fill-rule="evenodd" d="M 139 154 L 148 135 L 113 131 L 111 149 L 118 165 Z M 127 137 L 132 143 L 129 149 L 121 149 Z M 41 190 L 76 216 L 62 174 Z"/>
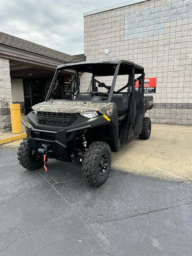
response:
<path id="1" fill-rule="evenodd" d="M 85 60 L 84 54 L 69 55 L 64 52 L 59 52 L 40 44 L 35 44 L 33 42 L 3 32 L 0 32 L 0 44 L 8 45 L 28 52 L 33 52 L 64 62 L 77 62 Z"/>

